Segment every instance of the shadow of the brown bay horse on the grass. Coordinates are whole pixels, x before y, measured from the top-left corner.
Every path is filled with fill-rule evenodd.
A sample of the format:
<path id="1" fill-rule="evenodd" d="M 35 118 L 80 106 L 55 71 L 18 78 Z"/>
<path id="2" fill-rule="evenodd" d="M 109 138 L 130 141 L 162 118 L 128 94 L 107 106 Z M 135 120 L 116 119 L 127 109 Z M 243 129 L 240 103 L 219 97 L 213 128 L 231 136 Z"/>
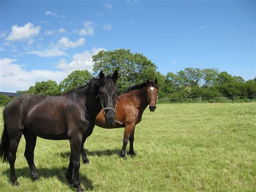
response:
<path id="1" fill-rule="evenodd" d="M 121 149 L 115 148 L 115 149 L 106 149 L 106 150 L 98 150 L 98 151 L 88 151 L 87 149 L 84 149 L 86 155 L 91 155 L 91 156 L 111 156 L 114 154 L 120 154 Z M 69 158 L 70 152 L 64 152 L 64 153 L 59 153 L 60 156 Z"/>

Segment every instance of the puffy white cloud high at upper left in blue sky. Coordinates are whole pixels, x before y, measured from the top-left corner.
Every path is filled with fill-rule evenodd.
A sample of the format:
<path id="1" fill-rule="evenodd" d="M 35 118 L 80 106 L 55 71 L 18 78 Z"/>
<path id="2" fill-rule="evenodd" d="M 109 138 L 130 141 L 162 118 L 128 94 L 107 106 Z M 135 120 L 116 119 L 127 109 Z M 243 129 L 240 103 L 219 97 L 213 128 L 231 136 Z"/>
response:
<path id="1" fill-rule="evenodd" d="M 8 41 L 27 41 L 28 44 L 31 43 L 31 39 L 33 39 L 34 36 L 37 36 L 39 34 L 39 31 L 41 30 L 40 26 L 34 27 L 34 24 L 27 23 L 24 25 L 24 27 L 18 27 L 18 25 L 12 26 L 12 31 L 8 35 L 8 37 L 5 38 L 5 40 Z"/>

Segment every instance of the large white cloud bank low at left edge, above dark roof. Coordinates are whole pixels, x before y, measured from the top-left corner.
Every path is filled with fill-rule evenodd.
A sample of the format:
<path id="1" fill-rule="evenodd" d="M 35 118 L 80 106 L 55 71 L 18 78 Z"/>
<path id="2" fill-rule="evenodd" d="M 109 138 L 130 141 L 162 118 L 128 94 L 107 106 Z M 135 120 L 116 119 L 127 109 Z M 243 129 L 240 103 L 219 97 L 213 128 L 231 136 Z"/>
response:
<path id="1" fill-rule="evenodd" d="M 16 92 L 18 90 L 28 90 L 36 81 L 52 79 L 57 83 L 62 81 L 68 74 L 64 71 L 50 70 L 31 70 L 27 71 L 24 65 L 13 63 L 18 62 L 16 59 L 0 59 L 1 63 L 1 91 Z"/>

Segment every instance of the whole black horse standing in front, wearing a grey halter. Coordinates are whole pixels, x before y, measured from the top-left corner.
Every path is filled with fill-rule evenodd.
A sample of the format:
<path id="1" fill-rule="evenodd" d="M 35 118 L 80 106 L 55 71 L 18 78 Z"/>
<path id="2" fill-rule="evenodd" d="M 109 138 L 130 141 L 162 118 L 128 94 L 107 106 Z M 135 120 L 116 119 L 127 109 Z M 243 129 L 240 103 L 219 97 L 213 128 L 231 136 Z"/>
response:
<path id="1" fill-rule="evenodd" d="M 81 146 L 91 135 L 95 118 L 103 108 L 109 126 L 115 122 L 117 100 L 117 71 L 111 76 L 91 79 L 84 87 L 73 89 L 62 96 L 21 95 L 4 108 L 4 132 L 0 144 L 0 158 L 10 164 L 11 181 L 18 185 L 14 163 L 22 134 L 26 140 L 25 158 L 32 178 L 39 174 L 34 165 L 37 136 L 51 140 L 69 140 L 71 155 L 66 178 L 77 191 L 84 191 L 79 181 Z M 74 179 L 72 181 L 72 172 Z"/>

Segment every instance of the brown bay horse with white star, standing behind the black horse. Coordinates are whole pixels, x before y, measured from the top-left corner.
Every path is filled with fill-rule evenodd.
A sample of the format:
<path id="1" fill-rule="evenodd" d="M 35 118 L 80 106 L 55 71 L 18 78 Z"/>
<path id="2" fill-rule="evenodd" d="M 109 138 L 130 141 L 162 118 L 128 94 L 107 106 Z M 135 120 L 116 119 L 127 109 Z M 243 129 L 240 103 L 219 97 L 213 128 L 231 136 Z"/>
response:
<path id="1" fill-rule="evenodd" d="M 156 78 L 155 82 L 147 79 L 147 82 L 134 85 L 119 96 L 121 101 L 117 101 L 115 126 L 108 126 L 105 123 L 103 111 L 101 111 L 95 119 L 95 124 L 98 127 L 106 129 L 124 127 L 123 147 L 121 151 L 121 156 L 124 159 L 126 159 L 125 155 L 128 140 L 130 141 L 129 153 L 130 155 L 135 155 L 133 149 L 134 130 L 135 125 L 141 121 L 143 111 L 148 105 L 150 111 L 154 111 L 156 108 L 159 89 L 157 83 Z M 83 144 L 81 155 L 84 163 L 90 163 L 85 154 Z"/>

